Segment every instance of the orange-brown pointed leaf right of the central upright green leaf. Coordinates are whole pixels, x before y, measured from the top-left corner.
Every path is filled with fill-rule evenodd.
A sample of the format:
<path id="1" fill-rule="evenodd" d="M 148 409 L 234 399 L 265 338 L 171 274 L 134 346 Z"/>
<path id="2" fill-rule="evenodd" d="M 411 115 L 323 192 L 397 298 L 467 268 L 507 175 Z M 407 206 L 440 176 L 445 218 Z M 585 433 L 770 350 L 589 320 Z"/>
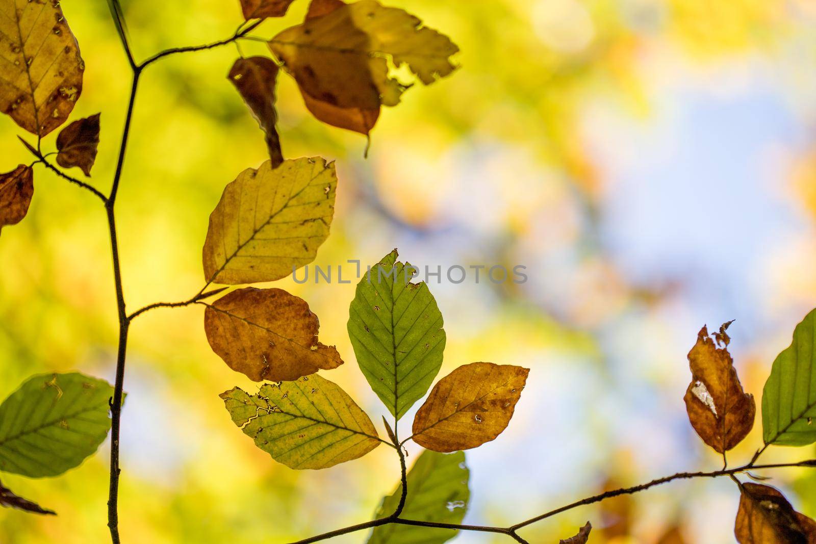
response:
<path id="1" fill-rule="evenodd" d="M 414 418 L 414 441 L 437 452 L 476 448 L 507 428 L 530 369 L 471 363 L 439 380 Z"/>

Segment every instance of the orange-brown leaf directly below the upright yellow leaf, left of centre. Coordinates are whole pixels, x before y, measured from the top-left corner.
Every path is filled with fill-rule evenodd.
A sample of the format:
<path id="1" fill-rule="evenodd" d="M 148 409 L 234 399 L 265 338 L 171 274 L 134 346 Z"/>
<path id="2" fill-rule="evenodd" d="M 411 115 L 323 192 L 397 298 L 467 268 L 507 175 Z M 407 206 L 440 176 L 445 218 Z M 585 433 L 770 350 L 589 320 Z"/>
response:
<path id="1" fill-rule="evenodd" d="M 342 365 L 334 346 L 317 341 L 319 328 L 304 299 L 282 289 L 235 290 L 204 312 L 212 350 L 255 382 L 296 380 Z"/>

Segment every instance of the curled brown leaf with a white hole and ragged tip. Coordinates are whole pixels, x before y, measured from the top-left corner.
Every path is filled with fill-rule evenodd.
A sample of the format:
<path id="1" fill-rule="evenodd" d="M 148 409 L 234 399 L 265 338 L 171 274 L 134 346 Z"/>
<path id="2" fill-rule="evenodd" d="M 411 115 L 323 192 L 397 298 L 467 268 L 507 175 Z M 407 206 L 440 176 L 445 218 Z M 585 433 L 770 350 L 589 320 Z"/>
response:
<path id="1" fill-rule="evenodd" d="M 751 431 L 756 414 L 754 397 L 743 391 L 728 352 L 727 326 L 716 334 L 723 347 L 716 346 L 706 327 L 700 329 L 689 352 L 691 383 L 684 398 L 692 427 L 717 453 L 739 444 Z"/>

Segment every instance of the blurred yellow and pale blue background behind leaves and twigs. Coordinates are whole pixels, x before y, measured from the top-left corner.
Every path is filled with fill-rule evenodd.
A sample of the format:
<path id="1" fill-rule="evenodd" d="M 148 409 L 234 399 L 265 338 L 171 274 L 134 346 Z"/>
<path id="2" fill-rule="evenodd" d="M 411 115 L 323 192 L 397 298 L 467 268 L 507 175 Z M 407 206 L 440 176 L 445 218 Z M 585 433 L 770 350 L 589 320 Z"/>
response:
<path id="1" fill-rule="evenodd" d="M 448 337 L 440 376 L 476 360 L 531 369 L 508 430 L 468 451 L 465 522 L 512 524 L 607 487 L 720 468 L 682 401 L 698 329 L 736 320 L 731 352 L 759 400 L 774 357 L 816 305 L 816 2 L 388 4 L 448 34 L 461 68 L 384 108 L 367 159 L 366 139 L 315 121 L 286 75 L 278 128 L 286 157 L 337 160 L 335 220 L 315 264 L 375 263 L 397 247 L 420 267 L 527 268 L 523 284 L 472 276 L 430 284 Z M 226 38 L 242 20 L 237 0 L 122 5 L 139 59 Z M 253 34 L 297 24 L 306 7 L 297 0 Z M 107 191 L 129 69 L 105 2 L 63 9 L 87 67 L 72 119 L 102 113 L 91 181 Z M 242 49 L 262 54 L 264 45 Z M 226 79 L 236 57 L 225 46 L 144 73 L 118 201 L 131 311 L 201 288 L 210 212 L 238 172 L 266 158 L 261 131 Z M 0 117 L 2 171 L 31 161 L 18 134 Z M 29 216 L 0 238 L 2 398 L 37 372 L 113 380 L 118 330 L 104 211 L 40 167 L 35 184 Z M 346 360 L 326 377 L 379 422 L 384 407 L 345 332 L 354 285 L 311 277 L 275 285 L 320 316 L 322 342 Z M 124 542 L 286 542 L 370 519 L 397 484 L 386 448 L 326 471 L 292 471 L 256 449 L 218 398 L 254 385 L 211 352 L 201 307 L 149 312 L 130 338 Z M 760 444 L 757 421 L 731 462 L 747 462 Z M 2 475 L 60 515 L 0 509 L 0 542 L 106 542 L 107 448 L 53 480 Z M 770 448 L 764 459 L 814 451 Z M 816 515 L 816 471 L 767 475 Z M 522 535 L 557 542 L 592 520 L 591 542 L 721 544 L 734 542 L 737 503 L 728 479 L 676 482 Z M 465 533 L 457 542 L 501 541 Z"/>

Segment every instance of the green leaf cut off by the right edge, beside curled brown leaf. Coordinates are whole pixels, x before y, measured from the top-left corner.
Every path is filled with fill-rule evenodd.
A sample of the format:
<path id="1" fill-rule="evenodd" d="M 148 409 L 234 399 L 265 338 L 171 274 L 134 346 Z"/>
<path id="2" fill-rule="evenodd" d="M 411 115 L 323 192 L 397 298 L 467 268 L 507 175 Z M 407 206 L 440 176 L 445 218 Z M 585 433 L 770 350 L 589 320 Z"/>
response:
<path id="1" fill-rule="evenodd" d="M 816 310 L 796 329 L 781 352 L 762 394 L 762 437 L 765 444 L 804 446 L 816 442 Z"/>

